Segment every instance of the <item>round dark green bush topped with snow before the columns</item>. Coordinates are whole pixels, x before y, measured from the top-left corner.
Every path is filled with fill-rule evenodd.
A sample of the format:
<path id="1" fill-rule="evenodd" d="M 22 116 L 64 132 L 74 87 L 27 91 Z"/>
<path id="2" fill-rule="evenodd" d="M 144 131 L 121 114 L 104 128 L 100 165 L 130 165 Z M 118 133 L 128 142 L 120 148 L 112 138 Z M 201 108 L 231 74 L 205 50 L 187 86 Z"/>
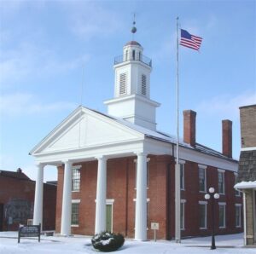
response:
<path id="1" fill-rule="evenodd" d="M 113 234 L 109 232 L 102 232 L 96 234 L 92 239 L 91 243 L 96 250 L 109 252 L 116 251 L 124 245 L 125 238 L 122 234 Z"/>

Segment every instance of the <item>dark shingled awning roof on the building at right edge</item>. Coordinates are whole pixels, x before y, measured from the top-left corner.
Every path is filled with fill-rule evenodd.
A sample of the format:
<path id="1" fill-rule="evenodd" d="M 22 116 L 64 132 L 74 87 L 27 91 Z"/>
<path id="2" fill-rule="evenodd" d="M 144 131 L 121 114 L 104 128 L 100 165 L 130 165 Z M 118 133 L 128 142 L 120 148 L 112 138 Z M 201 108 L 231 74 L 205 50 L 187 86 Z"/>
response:
<path id="1" fill-rule="evenodd" d="M 256 150 L 241 151 L 237 181 L 256 181 Z"/>

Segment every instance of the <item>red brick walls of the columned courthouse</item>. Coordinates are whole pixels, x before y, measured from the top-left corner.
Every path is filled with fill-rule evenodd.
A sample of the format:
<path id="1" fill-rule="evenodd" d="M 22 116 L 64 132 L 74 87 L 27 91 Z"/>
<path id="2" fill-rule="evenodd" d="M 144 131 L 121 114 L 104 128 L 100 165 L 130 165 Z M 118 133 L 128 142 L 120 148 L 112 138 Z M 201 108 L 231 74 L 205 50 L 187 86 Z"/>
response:
<path id="1" fill-rule="evenodd" d="M 159 239 L 171 239 L 175 232 L 175 161 L 171 156 L 148 156 L 148 239 L 154 238 L 150 229 L 151 222 L 158 222 Z M 135 201 L 136 199 L 136 157 L 123 159 L 108 159 L 107 165 L 107 199 L 113 201 L 113 232 L 119 232 L 129 238 L 134 237 Z M 94 234 L 96 209 L 96 177 L 97 162 L 81 164 L 80 191 L 73 193 L 73 199 L 80 199 L 79 227 L 72 227 L 73 234 Z M 194 162 L 185 164 L 185 190 L 181 198 L 185 203 L 185 230 L 182 236 L 211 234 L 211 210 L 207 205 L 207 229 L 199 229 L 199 201 L 204 201 L 205 193 L 199 192 L 198 165 Z M 233 188 L 234 173 L 225 171 L 225 195 L 219 202 L 226 202 L 226 228 L 216 228 L 218 234 L 241 232 L 242 228 L 235 226 L 235 204 L 241 204 L 241 197 L 235 196 Z M 63 169 L 58 168 L 58 190 L 56 231 L 61 228 L 61 197 L 63 184 Z M 214 187 L 218 191 L 218 169 L 207 167 L 207 189 Z M 218 221 L 218 205 L 215 205 Z"/>

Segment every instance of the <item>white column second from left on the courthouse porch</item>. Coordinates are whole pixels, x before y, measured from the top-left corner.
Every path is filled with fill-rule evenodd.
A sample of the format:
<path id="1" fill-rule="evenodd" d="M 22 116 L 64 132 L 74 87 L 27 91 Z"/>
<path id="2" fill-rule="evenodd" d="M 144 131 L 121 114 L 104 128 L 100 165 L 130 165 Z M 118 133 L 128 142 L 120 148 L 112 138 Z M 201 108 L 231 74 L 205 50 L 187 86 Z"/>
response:
<path id="1" fill-rule="evenodd" d="M 70 235 L 72 202 L 72 162 L 67 160 L 64 169 L 64 185 L 62 195 L 61 234 Z"/>

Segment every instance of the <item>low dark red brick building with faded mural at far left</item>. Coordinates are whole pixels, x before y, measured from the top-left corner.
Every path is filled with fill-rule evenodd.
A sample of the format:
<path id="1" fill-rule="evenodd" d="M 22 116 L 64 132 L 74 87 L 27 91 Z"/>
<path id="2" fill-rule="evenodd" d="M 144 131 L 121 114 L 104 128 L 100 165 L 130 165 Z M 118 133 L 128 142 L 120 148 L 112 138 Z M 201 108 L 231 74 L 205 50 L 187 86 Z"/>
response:
<path id="1" fill-rule="evenodd" d="M 22 170 L 0 170 L 0 231 L 17 230 L 33 217 L 35 182 Z M 55 229 L 56 186 L 44 183 L 44 230 Z"/>

